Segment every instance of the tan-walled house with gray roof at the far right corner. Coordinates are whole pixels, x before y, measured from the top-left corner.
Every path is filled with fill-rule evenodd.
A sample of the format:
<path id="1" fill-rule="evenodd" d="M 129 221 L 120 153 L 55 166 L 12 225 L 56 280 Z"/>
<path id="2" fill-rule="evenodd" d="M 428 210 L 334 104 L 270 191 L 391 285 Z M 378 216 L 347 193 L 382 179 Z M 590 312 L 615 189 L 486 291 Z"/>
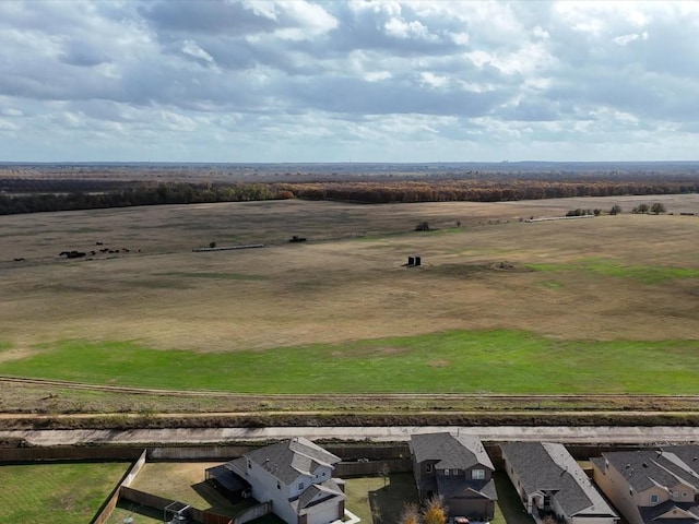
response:
<path id="1" fill-rule="evenodd" d="M 591 462 L 594 481 L 629 524 L 699 523 L 699 445 L 616 451 Z"/>

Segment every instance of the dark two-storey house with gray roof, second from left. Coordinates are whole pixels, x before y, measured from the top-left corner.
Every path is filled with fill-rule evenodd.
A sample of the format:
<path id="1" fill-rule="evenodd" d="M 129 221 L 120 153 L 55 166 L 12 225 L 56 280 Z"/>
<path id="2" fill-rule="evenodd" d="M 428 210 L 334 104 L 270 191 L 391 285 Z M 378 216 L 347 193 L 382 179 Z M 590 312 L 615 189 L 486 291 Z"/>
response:
<path id="1" fill-rule="evenodd" d="M 493 519 L 494 467 L 478 439 L 448 432 L 413 434 L 410 449 L 420 501 L 440 497 L 449 517 Z"/>

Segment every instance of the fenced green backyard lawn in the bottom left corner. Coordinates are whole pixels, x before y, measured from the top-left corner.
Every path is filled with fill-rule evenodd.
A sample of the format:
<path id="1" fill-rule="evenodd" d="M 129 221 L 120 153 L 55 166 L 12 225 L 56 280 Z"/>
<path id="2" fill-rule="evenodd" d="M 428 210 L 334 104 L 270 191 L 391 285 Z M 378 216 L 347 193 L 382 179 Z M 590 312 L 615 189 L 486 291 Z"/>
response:
<path id="1" fill-rule="evenodd" d="M 128 463 L 0 466 L 2 522 L 90 522 L 121 479 Z"/>

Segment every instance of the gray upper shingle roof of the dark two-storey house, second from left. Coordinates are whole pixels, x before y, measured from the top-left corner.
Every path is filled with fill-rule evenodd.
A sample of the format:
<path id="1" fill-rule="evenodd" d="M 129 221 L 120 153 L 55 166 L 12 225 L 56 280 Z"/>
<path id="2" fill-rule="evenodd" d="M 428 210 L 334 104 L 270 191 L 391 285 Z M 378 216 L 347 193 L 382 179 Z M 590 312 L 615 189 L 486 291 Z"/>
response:
<path id="1" fill-rule="evenodd" d="M 481 441 L 471 436 L 442 433 L 418 433 L 411 436 L 411 452 L 415 461 L 437 461 L 437 469 L 469 469 L 482 465 L 493 471 L 493 462 Z"/>

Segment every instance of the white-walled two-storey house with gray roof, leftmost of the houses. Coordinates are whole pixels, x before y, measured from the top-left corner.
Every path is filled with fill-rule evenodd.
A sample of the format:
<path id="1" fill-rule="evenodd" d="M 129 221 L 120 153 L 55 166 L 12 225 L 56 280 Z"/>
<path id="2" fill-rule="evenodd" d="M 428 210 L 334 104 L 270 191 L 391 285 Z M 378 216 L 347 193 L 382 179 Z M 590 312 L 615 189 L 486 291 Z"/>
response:
<path id="1" fill-rule="evenodd" d="M 272 501 L 272 512 L 288 524 L 328 524 L 344 516 L 344 483 L 332 478 L 340 457 L 298 437 L 245 453 L 225 464 L 234 480 L 222 485 L 249 485 L 260 502 Z"/>

